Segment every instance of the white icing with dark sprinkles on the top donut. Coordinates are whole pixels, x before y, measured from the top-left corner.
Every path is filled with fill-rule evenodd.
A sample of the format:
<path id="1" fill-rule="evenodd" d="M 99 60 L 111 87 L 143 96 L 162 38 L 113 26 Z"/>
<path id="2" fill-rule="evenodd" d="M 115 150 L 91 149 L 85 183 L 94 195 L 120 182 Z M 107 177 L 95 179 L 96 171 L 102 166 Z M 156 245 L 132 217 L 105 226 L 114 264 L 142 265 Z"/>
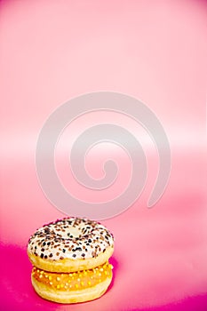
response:
<path id="1" fill-rule="evenodd" d="M 28 241 L 28 252 L 43 259 L 86 259 L 114 247 L 113 235 L 100 223 L 68 218 L 36 230 Z"/>

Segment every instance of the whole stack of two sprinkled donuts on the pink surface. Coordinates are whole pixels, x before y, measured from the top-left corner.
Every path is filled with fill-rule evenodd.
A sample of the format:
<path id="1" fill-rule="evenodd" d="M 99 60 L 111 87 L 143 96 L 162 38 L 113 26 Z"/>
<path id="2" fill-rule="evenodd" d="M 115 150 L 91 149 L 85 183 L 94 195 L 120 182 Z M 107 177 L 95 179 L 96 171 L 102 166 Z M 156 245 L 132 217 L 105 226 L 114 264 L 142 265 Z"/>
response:
<path id="1" fill-rule="evenodd" d="M 113 251 L 113 235 L 96 221 L 65 218 L 44 225 L 28 241 L 35 291 L 60 303 L 99 298 L 112 280 Z"/>

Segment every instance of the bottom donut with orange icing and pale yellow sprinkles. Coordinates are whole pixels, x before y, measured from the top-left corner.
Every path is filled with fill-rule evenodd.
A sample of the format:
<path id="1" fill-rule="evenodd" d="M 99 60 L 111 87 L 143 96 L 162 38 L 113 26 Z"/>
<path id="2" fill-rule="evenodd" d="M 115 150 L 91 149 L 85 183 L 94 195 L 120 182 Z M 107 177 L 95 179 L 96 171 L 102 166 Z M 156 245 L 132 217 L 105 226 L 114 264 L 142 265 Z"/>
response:
<path id="1" fill-rule="evenodd" d="M 59 303 L 76 303 L 102 296 L 112 280 L 112 266 L 73 273 L 54 273 L 33 267 L 31 281 L 36 293 L 44 299 Z"/>

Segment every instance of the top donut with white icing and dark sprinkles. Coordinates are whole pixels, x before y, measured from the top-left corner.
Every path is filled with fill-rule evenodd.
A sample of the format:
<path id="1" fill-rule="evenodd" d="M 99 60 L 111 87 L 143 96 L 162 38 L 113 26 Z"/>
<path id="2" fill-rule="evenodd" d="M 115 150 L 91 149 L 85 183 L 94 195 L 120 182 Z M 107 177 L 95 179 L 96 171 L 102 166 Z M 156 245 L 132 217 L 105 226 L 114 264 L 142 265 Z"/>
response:
<path id="1" fill-rule="evenodd" d="M 51 272 L 98 267 L 107 262 L 113 251 L 113 235 L 89 219 L 58 219 L 37 229 L 28 241 L 32 264 Z"/>

